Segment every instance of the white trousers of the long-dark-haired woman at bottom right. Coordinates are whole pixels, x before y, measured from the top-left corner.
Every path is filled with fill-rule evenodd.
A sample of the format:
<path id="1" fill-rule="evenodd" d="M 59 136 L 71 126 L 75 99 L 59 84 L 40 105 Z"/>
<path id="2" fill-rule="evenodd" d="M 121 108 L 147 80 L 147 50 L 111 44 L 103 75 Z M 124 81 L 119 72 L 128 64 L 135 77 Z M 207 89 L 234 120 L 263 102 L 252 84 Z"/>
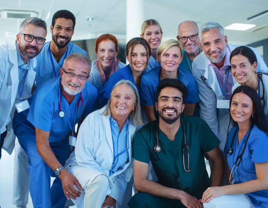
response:
<path id="1" fill-rule="evenodd" d="M 254 208 L 247 194 L 223 195 L 203 204 L 204 208 Z"/>

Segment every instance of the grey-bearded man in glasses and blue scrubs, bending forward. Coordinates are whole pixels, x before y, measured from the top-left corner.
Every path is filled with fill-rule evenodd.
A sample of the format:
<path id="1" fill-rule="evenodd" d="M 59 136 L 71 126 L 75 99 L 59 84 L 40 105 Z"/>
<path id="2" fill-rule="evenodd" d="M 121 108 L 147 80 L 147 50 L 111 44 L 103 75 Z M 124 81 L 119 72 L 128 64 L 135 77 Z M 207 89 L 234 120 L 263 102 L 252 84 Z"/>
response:
<path id="1" fill-rule="evenodd" d="M 63 208 L 66 198 L 79 197 L 73 185 L 81 186 L 63 164 L 71 153 L 70 142 L 75 142 L 74 126 L 93 111 L 96 101 L 97 89 L 87 81 L 90 69 L 88 56 L 69 55 L 60 76 L 34 92 L 29 111 L 15 114 L 13 130 L 29 157 L 30 194 L 35 208 Z M 56 179 L 50 190 L 51 174 Z"/>

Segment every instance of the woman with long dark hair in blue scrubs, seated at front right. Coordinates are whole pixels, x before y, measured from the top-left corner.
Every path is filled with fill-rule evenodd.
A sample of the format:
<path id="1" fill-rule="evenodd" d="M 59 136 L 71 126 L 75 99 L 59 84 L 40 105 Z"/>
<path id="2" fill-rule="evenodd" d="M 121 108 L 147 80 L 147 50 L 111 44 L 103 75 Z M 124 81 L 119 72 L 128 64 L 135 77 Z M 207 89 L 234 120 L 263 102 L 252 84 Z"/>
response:
<path id="1" fill-rule="evenodd" d="M 229 185 L 209 187 L 202 203 L 207 207 L 268 207 L 268 123 L 257 92 L 236 88 L 230 99 L 233 128 L 225 144 Z"/>

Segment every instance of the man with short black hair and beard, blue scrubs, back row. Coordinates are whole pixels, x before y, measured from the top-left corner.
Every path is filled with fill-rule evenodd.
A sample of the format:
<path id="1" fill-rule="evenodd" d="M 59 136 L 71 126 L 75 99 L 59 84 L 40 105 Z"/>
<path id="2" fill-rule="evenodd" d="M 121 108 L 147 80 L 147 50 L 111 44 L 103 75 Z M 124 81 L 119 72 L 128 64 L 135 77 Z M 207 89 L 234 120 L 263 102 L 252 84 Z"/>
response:
<path id="1" fill-rule="evenodd" d="M 46 42 L 37 56 L 36 88 L 60 75 L 59 69 L 69 54 L 77 52 L 88 56 L 86 51 L 70 42 L 74 34 L 74 26 L 75 17 L 68 10 L 60 10 L 53 15 L 50 26 L 52 41 Z"/>

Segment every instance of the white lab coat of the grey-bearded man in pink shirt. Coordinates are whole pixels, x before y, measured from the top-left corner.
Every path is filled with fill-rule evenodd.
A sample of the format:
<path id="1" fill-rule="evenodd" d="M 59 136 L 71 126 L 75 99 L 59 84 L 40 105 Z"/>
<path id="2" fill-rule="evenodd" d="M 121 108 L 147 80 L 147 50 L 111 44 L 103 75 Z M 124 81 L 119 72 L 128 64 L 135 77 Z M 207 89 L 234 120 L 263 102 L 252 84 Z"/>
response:
<path id="1" fill-rule="evenodd" d="M 239 45 L 228 44 L 227 47 L 232 52 Z M 251 48 L 251 47 L 250 47 Z M 251 48 L 257 56 L 257 72 L 267 72 L 268 68 L 255 48 Z M 192 63 L 192 74 L 197 82 L 198 94 L 200 97 L 200 117 L 208 124 L 214 134 L 219 138 L 219 148 L 223 151 L 227 138 L 229 125 L 229 109 L 217 109 L 217 100 L 223 100 L 222 91 L 216 78 L 216 73 L 212 66 L 208 65 L 208 59 L 204 52 L 200 53 Z M 206 78 L 209 89 L 203 82 L 201 76 Z M 236 80 L 233 78 L 233 84 Z M 230 124 L 231 125 L 231 124 Z M 231 126 L 230 126 L 231 127 Z M 230 129 L 230 128 L 229 128 Z"/>

